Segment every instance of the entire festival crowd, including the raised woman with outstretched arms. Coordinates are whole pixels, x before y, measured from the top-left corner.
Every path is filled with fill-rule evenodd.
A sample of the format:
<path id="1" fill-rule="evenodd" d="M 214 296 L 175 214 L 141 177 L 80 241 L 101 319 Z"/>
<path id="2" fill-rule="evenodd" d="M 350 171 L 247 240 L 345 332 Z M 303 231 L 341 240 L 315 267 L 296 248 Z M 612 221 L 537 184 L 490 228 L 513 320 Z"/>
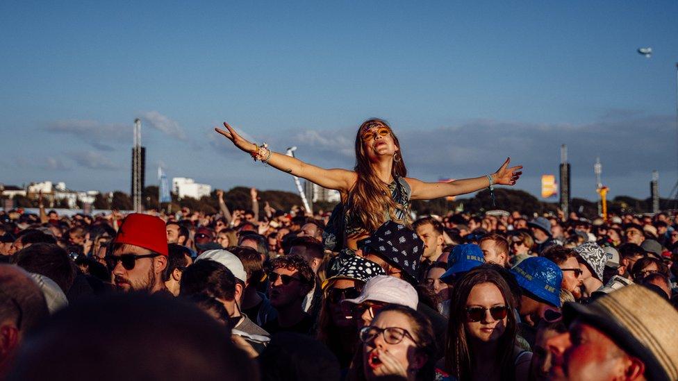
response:
<path id="1" fill-rule="evenodd" d="M 225 137 L 338 189 L 300 208 L 0 212 L 8 380 L 678 380 L 678 216 L 413 216 L 412 199 L 513 185 L 406 178 L 370 119 L 354 171 Z"/>

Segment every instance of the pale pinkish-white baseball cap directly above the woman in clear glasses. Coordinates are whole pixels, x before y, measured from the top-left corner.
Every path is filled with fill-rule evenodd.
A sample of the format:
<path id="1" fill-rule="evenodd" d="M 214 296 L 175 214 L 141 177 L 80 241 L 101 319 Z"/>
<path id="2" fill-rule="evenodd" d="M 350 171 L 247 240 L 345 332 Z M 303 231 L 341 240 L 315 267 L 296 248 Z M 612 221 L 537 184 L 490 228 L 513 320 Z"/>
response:
<path id="1" fill-rule="evenodd" d="M 413 310 L 417 310 L 417 304 L 419 304 L 417 290 L 408 282 L 392 276 L 375 276 L 367 280 L 360 296 L 345 299 L 342 303 L 360 304 L 365 300 L 404 305 Z"/>

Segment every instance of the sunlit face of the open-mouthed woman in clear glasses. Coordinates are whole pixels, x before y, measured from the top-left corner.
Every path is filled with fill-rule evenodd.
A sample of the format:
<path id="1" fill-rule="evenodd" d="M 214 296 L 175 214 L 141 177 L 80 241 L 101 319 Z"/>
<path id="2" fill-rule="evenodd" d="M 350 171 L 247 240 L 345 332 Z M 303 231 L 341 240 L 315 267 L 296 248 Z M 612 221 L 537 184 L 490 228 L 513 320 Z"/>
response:
<path id="1" fill-rule="evenodd" d="M 372 326 L 377 328 L 402 328 L 408 332 L 408 335 L 402 337 L 402 341 L 397 344 L 389 344 L 383 335 L 379 334 L 367 343 L 363 344 L 363 364 L 365 368 L 365 378 L 374 380 L 383 375 L 389 374 L 388 367 L 384 362 L 395 361 L 402 366 L 408 373 L 421 369 L 426 359 L 417 350 L 414 335 L 414 328 L 410 319 L 396 311 L 382 312 L 372 321 Z M 388 359 L 385 359 L 388 357 Z"/>

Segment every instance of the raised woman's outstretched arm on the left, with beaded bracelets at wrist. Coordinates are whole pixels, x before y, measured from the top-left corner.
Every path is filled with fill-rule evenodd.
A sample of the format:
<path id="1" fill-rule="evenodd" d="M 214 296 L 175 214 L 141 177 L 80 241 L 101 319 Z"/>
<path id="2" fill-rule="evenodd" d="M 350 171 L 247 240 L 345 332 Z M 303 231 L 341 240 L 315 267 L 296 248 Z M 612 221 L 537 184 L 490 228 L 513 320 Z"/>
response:
<path id="1" fill-rule="evenodd" d="M 246 139 L 238 135 L 235 130 L 224 122 L 226 130 L 215 128 L 217 133 L 224 135 L 231 140 L 233 144 L 249 154 L 256 149 L 256 144 L 247 142 Z M 324 169 L 316 167 L 312 164 L 302 162 L 297 158 L 292 158 L 282 153 L 275 153 L 271 151 L 271 157 L 268 160 L 271 167 L 280 169 L 286 173 L 290 173 L 300 178 L 305 178 L 321 187 L 327 189 L 337 189 L 340 192 L 348 192 L 349 189 L 356 182 L 356 173 L 347 171 L 346 169 Z"/>

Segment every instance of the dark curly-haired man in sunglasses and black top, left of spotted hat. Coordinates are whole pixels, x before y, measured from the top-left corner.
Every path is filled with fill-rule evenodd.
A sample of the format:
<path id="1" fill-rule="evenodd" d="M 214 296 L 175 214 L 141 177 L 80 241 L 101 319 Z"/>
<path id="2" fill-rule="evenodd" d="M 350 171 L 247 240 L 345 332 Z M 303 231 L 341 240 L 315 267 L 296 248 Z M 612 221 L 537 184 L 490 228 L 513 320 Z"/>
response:
<path id="1" fill-rule="evenodd" d="M 313 328 L 313 316 L 304 312 L 304 297 L 313 288 L 315 273 L 298 255 L 277 257 L 270 263 L 268 294 L 278 316 L 263 328 L 276 332 L 308 334 Z"/>

